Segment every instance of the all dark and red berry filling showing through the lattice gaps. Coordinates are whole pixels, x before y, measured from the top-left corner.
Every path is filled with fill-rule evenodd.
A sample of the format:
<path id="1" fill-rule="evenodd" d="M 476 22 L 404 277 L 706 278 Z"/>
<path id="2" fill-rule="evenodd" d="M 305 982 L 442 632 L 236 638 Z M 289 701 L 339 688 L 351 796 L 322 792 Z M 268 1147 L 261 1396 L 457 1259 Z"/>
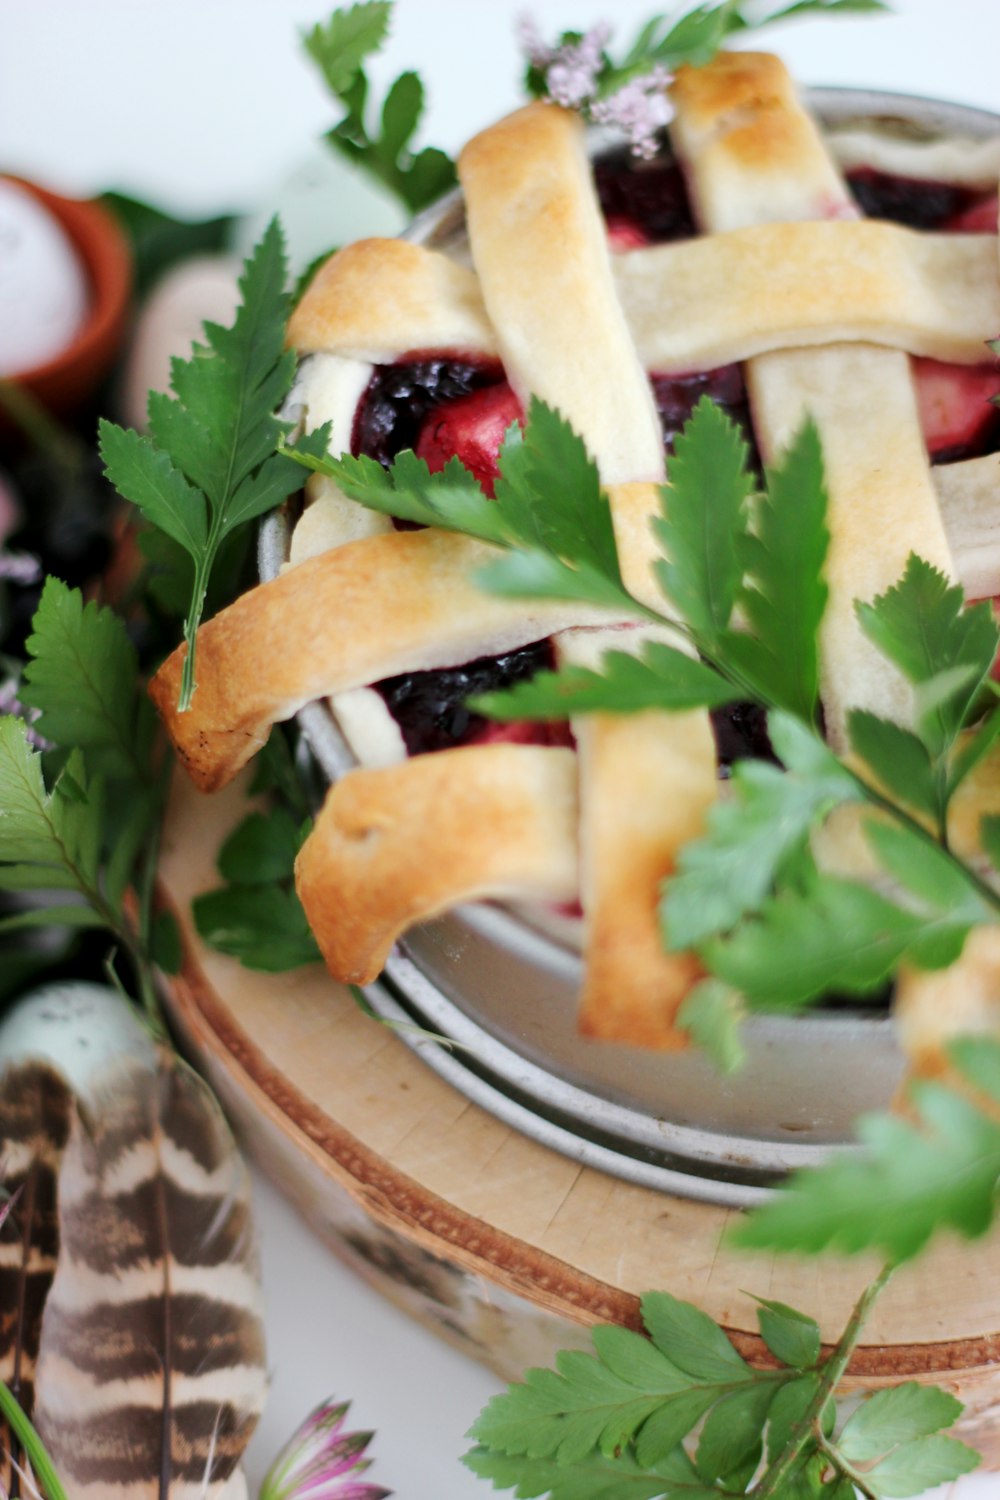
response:
<path id="1" fill-rule="evenodd" d="M 640 162 L 627 150 L 609 152 L 594 164 L 601 210 L 615 249 L 666 243 L 697 234 L 679 165 L 670 156 Z M 918 230 L 996 228 L 996 198 L 948 183 L 894 177 L 874 168 L 849 174 L 864 213 Z M 936 464 L 975 458 L 1000 448 L 1000 411 L 990 398 L 1000 392 L 996 366 L 967 368 L 915 360 L 915 378 L 928 450 Z M 751 464 L 760 470 L 753 422 L 739 364 L 693 375 L 649 376 L 663 426 L 664 447 L 708 394 L 742 428 Z M 475 474 L 487 494 L 496 477 L 504 430 L 520 408 L 502 366 L 415 352 L 375 370 L 354 423 L 352 453 L 388 465 L 406 447 L 432 470 L 453 454 Z M 483 657 L 459 668 L 409 672 L 376 684 L 400 726 L 409 754 L 460 744 L 507 740 L 531 744 L 571 744 L 565 723 L 496 724 L 471 712 L 465 699 L 507 687 L 552 666 L 550 642 L 538 642 L 502 657 Z M 720 776 L 741 759 L 775 760 L 766 716 L 756 704 L 729 704 L 712 712 Z"/>

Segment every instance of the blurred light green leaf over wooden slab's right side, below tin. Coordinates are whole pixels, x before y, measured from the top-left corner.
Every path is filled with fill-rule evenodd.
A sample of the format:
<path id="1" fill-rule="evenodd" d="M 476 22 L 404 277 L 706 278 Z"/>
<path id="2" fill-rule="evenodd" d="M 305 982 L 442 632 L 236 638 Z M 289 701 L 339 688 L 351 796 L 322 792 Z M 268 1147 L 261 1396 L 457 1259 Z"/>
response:
<path id="1" fill-rule="evenodd" d="M 1000 1041 L 960 1038 L 948 1056 L 996 1110 Z M 901 1263 L 939 1228 L 984 1234 L 1000 1202 L 1000 1120 L 939 1082 L 913 1083 L 909 1100 L 913 1118 L 862 1119 L 862 1155 L 795 1174 L 736 1226 L 732 1244 L 805 1254 L 879 1250 Z"/>

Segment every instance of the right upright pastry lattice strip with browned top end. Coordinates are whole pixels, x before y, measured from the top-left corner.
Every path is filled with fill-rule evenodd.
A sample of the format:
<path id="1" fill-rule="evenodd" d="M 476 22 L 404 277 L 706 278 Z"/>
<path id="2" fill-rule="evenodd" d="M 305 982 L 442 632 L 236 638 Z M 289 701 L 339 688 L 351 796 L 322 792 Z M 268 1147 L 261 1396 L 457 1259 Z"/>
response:
<path id="1" fill-rule="evenodd" d="M 856 216 L 778 58 L 721 54 L 708 68 L 682 69 L 673 92 L 675 141 L 705 228 Z M 820 429 L 831 531 L 822 692 L 840 748 L 852 706 L 901 722 L 912 706 L 900 674 L 862 634 L 855 600 L 895 584 L 910 552 L 952 572 L 909 363 L 892 350 L 834 344 L 763 354 L 747 378 L 766 460 L 807 416 Z"/>

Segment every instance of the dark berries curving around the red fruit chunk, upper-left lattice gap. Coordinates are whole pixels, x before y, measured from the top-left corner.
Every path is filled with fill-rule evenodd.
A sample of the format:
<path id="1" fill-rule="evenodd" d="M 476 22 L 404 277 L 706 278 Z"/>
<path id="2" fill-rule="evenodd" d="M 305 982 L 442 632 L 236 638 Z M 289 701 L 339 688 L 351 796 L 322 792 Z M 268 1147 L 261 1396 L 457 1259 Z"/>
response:
<path id="1" fill-rule="evenodd" d="M 396 364 L 378 364 L 358 404 L 351 453 L 378 459 L 388 468 L 397 453 L 417 446 L 430 411 L 502 381 L 499 360 L 415 352 Z"/>

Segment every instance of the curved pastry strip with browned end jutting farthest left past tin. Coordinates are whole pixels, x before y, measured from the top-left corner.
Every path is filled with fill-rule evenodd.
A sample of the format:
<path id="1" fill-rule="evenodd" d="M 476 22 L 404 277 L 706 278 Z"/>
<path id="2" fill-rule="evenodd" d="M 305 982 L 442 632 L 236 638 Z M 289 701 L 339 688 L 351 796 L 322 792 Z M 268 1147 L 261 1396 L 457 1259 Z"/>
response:
<path id="1" fill-rule="evenodd" d="M 600 612 L 483 592 L 496 556 L 427 528 L 364 537 L 243 594 L 198 632 L 198 688 L 177 711 L 186 648 L 150 693 L 181 764 L 204 792 L 225 786 L 277 720 L 304 704 L 397 672 L 471 662 L 540 640 Z"/>

